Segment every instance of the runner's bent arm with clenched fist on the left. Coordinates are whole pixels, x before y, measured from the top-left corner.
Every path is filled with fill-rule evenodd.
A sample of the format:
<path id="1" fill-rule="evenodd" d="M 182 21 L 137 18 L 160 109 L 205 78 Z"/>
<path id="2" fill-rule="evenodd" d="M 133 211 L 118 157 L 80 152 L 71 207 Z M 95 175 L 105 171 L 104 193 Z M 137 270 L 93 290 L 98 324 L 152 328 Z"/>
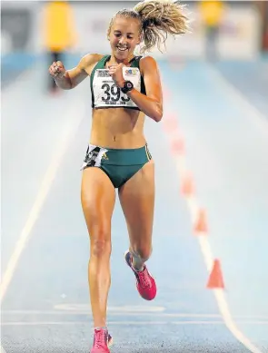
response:
<path id="1" fill-rule="evenodd" d="M 84 79 L 91 74 L 94 64 L 100 60 L 99 54 L 86 54 L 80 60 L 74 69 L 65 70 L 62 62 L 54 62 L 49 67 L 49 74 L 55 79 L 55 83 L 63 90 L 71 90 L 77 84 L 82 83 Z"/>

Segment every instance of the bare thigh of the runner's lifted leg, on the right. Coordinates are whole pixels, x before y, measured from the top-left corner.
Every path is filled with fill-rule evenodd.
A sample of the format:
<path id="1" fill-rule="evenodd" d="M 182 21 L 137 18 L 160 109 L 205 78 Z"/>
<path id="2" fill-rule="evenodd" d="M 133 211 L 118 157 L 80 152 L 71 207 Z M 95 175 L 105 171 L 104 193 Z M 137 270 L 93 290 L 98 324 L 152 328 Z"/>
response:
<path id="1" fill-rule="evenodd" d="M 154 161 L 124 183 L 119 190 L 131 244 L 149 245 L 154 222 Z"/>

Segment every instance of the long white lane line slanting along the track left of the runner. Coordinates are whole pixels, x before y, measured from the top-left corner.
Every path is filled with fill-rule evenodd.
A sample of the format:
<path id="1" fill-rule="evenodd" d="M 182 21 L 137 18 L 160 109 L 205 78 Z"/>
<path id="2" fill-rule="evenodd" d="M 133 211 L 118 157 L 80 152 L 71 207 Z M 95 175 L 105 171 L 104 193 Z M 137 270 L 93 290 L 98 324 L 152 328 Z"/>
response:
<path id="1" fill-rule="evenodd" d="M 6 270 L 0 284 L 0 302 L 2 302 L 5 297 L 6 290 L 8 289 L 10 281 L 14 276 L 18 260 L 20 259 L 20 256 L 23 250 L 25 249 L 25 245 L 31 235 L 31 230 L 35 226 L 35 221 L 38 219 L 39 213 L 44 205 L 46 196 L 52 187 L 56 172 L 59 168 L 60 162 L 62 161 L 65 155 L 65 151 L 68 147 L 68 144 L 72 136 L 74 136 L 74 133 L 78 129 L 79 124 L 84 118 L 84 109 L 85 105 L 83 103 L 81 103 L 80 101 L 77 103 L 73 101 L 70 109 L 65 109 L 63 111 L 63 113 L 69 115 L 69 119 L 66 117 L 66 122 L 69 121 L 69 123 L 66 123 L 65 125 L 65 130 L 59 142 L 59 148 L 55 152 L 53 159 L 50 165 L 48 166 L 47 171 L 45 172 L 45 176 L 42 181 L 39 192 L 36 196 L 34 205 L 30 211 L 27 221 L 25 222 L 25 227 L 23 228 L 20 237 L 15 244 L 15 250 L 13 251 L 10 259 L 8 260 Z"/>

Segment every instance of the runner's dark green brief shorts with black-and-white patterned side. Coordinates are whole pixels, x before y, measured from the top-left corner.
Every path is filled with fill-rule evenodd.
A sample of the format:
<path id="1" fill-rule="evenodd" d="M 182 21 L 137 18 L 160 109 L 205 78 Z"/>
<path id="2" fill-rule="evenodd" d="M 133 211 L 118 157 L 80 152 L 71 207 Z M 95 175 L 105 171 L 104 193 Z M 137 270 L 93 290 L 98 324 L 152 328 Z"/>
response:
<path id="1" fill-rule="evenodd" d="M 121 150 L 89 144 L 81 170 L 100 168 L 108 175 L 114 188 L 120 188 L 151 159 L 147 144 L 141 148 Z"/>

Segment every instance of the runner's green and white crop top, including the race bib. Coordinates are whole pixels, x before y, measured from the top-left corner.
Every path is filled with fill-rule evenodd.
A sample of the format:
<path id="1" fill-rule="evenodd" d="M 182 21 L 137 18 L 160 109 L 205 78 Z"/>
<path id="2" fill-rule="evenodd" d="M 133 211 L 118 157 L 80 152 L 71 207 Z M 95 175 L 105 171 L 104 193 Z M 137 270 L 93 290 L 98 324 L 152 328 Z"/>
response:
<path id="1" fill-rule="evenodd" d="M 104 57 L 94 66 L 94 70 L 90 76 L 92 107 L 96 109 L 102 108 L 131 108 L 140 110 L 137 105 L 121 92 L 116 86 L 113 78 L 109 75 L 109 70 L 105 68 L 105 64 L 110 60 L 111 55 Z M 144 86 L 144 77 L 140 72 L 140 59 L 142 56 L 135 56 L 130 66 L 123 67 L 124 80 L 131 81 L 134 89 L 146 94 Z"/>

